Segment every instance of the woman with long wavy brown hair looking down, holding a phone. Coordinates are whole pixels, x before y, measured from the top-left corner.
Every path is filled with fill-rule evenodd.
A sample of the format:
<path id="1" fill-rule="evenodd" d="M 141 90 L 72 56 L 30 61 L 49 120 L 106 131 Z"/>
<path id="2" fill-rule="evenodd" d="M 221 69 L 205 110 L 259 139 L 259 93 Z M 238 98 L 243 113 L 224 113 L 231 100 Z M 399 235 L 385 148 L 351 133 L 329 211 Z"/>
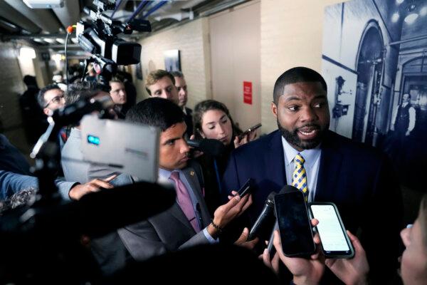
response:
<path id="1" fill-rule="evenodd" d="M 208 204 L 209 211 L 212 214 L 212 211 L 221 202 L 222 190 L 219 181 L 221 181 L 228 157 L 237 147 L 255 140 L 256 132 L 243 134 L 243 131 L 234 124 L 226 105 L 216 100 L 204 100 L 195 106 L 193 125 L 194 139 L 215 139 L 226 146 L 226 151 L 219 157 L 204 154 L 197 158 L 206 181 L 206 204 Z"/>

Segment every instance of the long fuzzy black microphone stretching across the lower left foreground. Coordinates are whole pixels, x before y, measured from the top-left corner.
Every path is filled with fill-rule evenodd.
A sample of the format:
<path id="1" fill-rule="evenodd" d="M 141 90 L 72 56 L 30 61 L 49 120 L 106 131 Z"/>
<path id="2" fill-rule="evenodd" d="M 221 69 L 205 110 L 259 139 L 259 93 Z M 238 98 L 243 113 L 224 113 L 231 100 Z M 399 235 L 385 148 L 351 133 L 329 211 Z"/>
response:
<path id="1" fill-rule="evenodd" d="M 135 182 L 92 192 L 74 202 L 36 202 L 28 209 L 16 208 L 10 215 L 1 217 L 0 240 L 16 234 L 26 236 L 28 233 L 33 234 L 35 243 L 46 236 L 51 239 L 56 237 L 58 242 L 80 234 L 102 237 L 115 229 L 169 209 L 175 197 L 171 185 Z"/>

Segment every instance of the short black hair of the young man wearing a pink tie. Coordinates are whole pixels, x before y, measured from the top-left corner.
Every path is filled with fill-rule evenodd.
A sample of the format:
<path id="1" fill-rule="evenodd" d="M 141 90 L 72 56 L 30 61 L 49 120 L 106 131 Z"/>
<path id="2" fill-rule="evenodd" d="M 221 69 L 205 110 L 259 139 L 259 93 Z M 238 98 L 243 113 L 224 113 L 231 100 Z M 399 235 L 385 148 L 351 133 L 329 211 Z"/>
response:
<path id="1" fill-rule="evenodd" d="M 127 111 L 126 120 L 157 127 L 164 132 L 176 123 L 184 122 L 184 113 L 171 100 L 154 97 L 142 100 Z"/>

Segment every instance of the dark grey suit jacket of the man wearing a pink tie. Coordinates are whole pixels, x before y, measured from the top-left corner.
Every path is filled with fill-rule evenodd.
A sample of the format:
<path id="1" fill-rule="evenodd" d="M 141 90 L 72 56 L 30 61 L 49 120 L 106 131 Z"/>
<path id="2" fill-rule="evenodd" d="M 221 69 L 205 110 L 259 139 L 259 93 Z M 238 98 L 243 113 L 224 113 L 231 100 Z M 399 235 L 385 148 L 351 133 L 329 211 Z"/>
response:
<path id="1" fill-rule="evenodd" d="M 195 171 L 194 167 L 199 167 L 199 170 Z M 184 172 L 186 180 L 199 201 L 201 224 L 203 227 L 207 227 L 211 217 L 196 175 L 196 173 L 201 173 L 200 165 L 192 163 L 191 166 L 184 168 L 182 172 Z M 120 175 L 116 180 L 117 184 L 120 185 L 132 182 L 132 178 L 129 175 Z M 164 254 L 165 252 L 174 252 L 196 244 L 209 243 L 203 230 L 198 233 L 194 231 L 177 203 L 165 212 L 149 217 L 142 222 L 118 229 L 117 232 L 127 250 L 137 261 Z"/>

